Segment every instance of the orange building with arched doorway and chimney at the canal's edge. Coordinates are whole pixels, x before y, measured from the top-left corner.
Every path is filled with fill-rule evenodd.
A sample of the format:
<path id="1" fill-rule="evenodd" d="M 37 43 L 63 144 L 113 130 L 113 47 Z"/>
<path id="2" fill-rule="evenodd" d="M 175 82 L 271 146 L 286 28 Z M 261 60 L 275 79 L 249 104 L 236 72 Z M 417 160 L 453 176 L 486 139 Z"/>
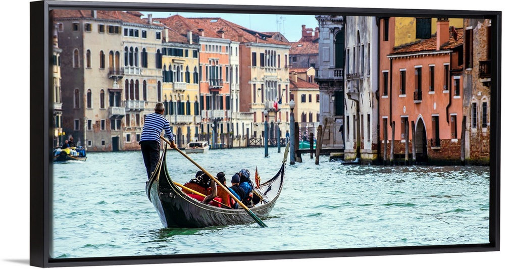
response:
<path id="1" fill-rule="evenodd" d="M 394 47 L 395 18 L 380 21 L 379 136 L 386 162 L 458 163 L 463 120 L 463 29 Z"/>

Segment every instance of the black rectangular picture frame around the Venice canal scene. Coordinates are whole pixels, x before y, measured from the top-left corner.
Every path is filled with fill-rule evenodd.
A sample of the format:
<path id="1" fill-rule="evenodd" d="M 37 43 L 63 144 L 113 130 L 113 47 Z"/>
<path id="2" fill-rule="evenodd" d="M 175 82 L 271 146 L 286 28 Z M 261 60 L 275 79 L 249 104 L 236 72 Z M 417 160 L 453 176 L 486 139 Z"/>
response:
<path id="1" fill-rule="evenodd" d="M 117 9 L 117 10 L 150 10 L 167 9 L 180 12 L 230 12 L 230 13 L 278 13 L 284 14 L 328 14 L 359 16 L 405 16 L 437 17 L 452 16 L 465 18 L 490 18 L 493 20 L 492 43 L 493 84 L 491 99 L 491 123 L 496 126 L 491 134 L 490 147 L 490 216 L 489 244 L 422 246 L 422 247 L 384 247 L 366 249 L 341 249 L 324 251 L 279 251 L 250 252 L 243 254 L 201 254 L 172 256 L 125 256 L 99 258 L 52 259 L 48 253 L 49 229 L 51 224 L 51 203 L 49 187 L 52 182 L 52 169 L 49 154 L 52 148 L 51 124 L 52 106 L 49 62 L 51 55 L 51 38 L 49 9 Z M 491 8 L 492 9 L 492 8 Z M 496 27 L 494 27 L 496 26 Z M 215 262 L 239 260 L 277 260 L 277 259 L 311 259 L 332 257 L 363 257 L 383 255 L 441 254 L 499 251 L 500 235 L 500 100 L 501 93 L 501 11 L 474 10 L 414 10 L 414 9 L 375 9 L 375 8 L 328 8 L 303 6 L 241 6 L 241 5 L 207 5 L 207 4 L 163 4 L 163 3 L 114 3 L 114 2 L 67 2 L 35 1 L 30 2 L 30 143 L 41 145 L 30 147 L 30 265 L 37 267 L 94 266 L 94 265 L 132 265 L 185 262 Z M 494 90 L 494 91 L 493 91 Z M 43 101 L 41 101 L 43 100 Z M 332 259 L 333 261 L 334 259 Z M 261 266 L 261 265 L 259 265 Z"/>

